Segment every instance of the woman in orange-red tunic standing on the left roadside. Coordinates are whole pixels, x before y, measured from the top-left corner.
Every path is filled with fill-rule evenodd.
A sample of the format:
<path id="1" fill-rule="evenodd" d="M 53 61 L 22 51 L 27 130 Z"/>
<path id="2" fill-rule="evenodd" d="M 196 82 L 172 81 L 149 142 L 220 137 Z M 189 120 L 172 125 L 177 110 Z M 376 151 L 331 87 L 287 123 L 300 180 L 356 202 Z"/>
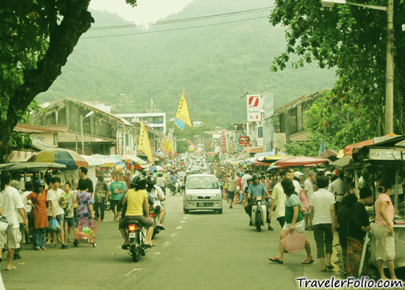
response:
<path id="1" fill-rule="evenodd" d="M 32 206 L 31 214 L 34 217 L 34 232 L 32 234 L 32 247 L 34 250 L 47 250 L 45 247 L 45 229 L 48 227 L 47 197 L 45 195 L 45 182 L 34 181 L 34 191 L 27 195 L 27 204 Z"/>

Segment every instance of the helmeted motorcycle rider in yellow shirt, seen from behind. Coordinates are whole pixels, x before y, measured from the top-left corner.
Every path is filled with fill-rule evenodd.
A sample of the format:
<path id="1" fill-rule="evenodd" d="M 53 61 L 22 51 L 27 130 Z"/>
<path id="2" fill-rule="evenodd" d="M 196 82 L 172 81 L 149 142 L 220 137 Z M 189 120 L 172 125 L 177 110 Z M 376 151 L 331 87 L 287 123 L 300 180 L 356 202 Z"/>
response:
<path id="1" fill-rule="evenodd" d="M 126 226 L 128 221 L 139 221 L 144 227 L 148 227 L 146 231 L 145 241 L 143 245 L 152 247 L 152 234 L 154 228 L 154 222 L 152 218 L 149 217 L 149 206 L 148 206 L 148 193 L 146 192 L 146 178 L 141 174 L 133 174 L 130 179 L 131 189 L 125 194 L 122 205 L 126 206 L 125 217 L 119 221 L 119 231 L 124 238 L 124 245 L 122 248 L 126 248 L 130 245 L 126 234 Z M 146 211 L 146 217 L 143 215 L 143 208 Z"/>

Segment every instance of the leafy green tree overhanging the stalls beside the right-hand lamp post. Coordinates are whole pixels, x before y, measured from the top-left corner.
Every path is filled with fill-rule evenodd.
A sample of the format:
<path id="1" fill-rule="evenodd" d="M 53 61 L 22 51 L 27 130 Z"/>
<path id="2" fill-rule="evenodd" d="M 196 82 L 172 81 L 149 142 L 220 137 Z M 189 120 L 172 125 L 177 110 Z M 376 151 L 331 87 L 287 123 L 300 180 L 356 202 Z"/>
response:
<path id="1" fill-rule="evenodd" d="M 358 1 L 364 2 L 386 5 L 386 0 Z M 338 113 L 341 118 L 347 119 L 347 116 L 353 118 L 347 120 L 340 128 L 343 130 L 340 134 L 346 141 L 347 139 L 361 141 L 364 136 L 369 137 L 371 131 L 375 136 L 378 128 L 384 126 L 386 13 L 354 5 L 323 8 L 321 1 L 276 0 L 275 3 L 277 6 L 270 16 L 270 23 L 287 27 L 287 47 L 286 51 L 275 58 L 271 70 L 284 69 L 291 54 L 299 57 L 292 62 L 293 67 L 303 67 L 305 63 L 312 61 L 318 62 L 321 68 L 337 67 L 338 81 L 330 97 L 338 100 L 341 110 Z M 395 0 L 394 130 L 405 134 L 403 23 L 405 23 L 405 0 Z M 325 105 L 327 106 L 324 102 L 323 106 Z M 325 109 L 320 106 L 314 108 L 319 112 Z M 322 129 L 328 130 L 326 127 L 323 126 Z M 364 128 L 367 128 L 367 132 L 364 134 L 359 132 Z M 354 134 L 356 130 L 358 134 Z M 346 134 L 346 131 L 349 133 Z"/>

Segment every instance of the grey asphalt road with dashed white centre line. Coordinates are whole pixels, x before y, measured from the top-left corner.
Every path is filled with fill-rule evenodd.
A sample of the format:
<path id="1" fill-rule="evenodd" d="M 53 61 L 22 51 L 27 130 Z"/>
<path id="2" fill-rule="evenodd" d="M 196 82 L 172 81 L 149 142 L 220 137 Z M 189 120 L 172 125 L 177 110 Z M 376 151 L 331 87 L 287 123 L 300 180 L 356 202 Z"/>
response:
<path id="1" fill-rule="evenodd" d="M 24 245 L 15 271 L 1 274 L 6 289 L 298 289 L 296 277 L 326 279 L 338 270 L 323 273 L 315 263 L 302 265 L 305 252 L 286 254 L 283 265 L 268 261 L 278 252 L 277 221 L 274 231 L 257 232 L 248 227 L 241 205 L 224 213 L 198 212 L 185 215 L 180 195 L 167 196 L 166 230 L 154 239 L 153 247 L 138 263 L 121 249 L 123 239 L 112 213 L 97 229 L 97 247 L 81 244 L 45 252 Z M 334 244 L 338 243 L 335 236 Z M 334 251 L 336 253 L 336 251 Z M 5 258 L 5 254 L 3 254 Z M 337 261 L 336 254 L 333 261 Z M 336 268 L 338 268 L 336 266 Z"/>

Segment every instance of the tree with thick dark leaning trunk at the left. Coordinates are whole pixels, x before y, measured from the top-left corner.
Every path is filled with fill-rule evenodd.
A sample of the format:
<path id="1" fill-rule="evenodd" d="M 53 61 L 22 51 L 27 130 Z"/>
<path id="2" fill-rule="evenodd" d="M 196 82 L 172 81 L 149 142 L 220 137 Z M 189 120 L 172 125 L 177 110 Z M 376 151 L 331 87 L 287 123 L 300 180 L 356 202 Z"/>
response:
<path id="1" fill-rule="evenodd" d="M 0 3 L 0 161 L 15 125 L 61 74 L 94 22 L 90 0 L 3 0 Z M 134 6 L 136 0 L 126 0 Z"/>

